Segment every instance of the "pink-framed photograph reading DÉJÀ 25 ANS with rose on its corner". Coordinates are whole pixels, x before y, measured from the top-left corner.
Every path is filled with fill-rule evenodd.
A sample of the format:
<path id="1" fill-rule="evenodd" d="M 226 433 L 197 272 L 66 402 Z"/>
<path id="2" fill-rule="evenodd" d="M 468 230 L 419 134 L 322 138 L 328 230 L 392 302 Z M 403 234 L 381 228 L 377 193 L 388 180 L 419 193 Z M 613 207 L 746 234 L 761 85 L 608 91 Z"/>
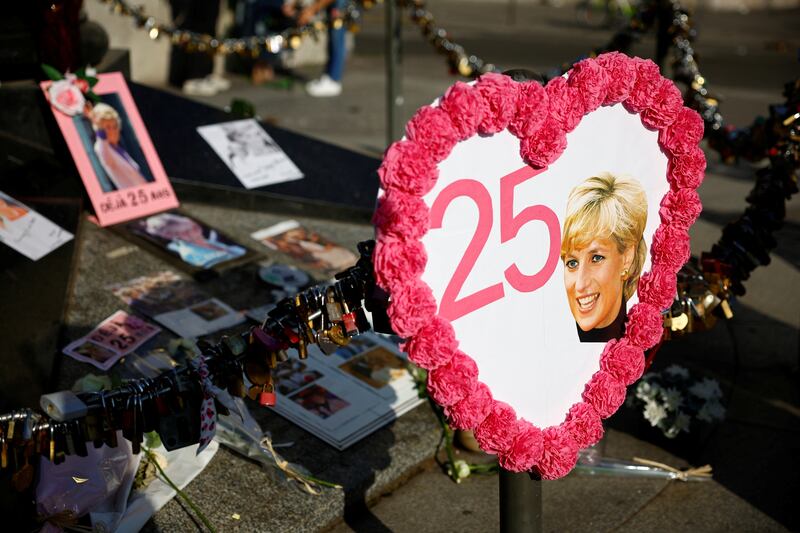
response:
<path id="1" fill-rule="evenodd" d="M 98 75 L 98 80 L 93 90 L 99 102 L 85 100 L 74 114 L 54 105 L 53 115 L 99 224 L 108 226 L 177 207 L 178 199 L 125 78 L 112 72 Z M 61 82 L 41 84 L 51 99 L 54 83 Z"/>

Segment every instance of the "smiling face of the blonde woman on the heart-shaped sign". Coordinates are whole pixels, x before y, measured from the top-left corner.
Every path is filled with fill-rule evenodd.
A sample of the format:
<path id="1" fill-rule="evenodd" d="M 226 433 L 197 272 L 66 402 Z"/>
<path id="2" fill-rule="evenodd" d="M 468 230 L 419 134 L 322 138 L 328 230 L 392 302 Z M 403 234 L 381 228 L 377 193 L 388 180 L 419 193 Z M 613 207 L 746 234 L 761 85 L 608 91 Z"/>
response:
<path id="1" fill-rule="evenodd" d="M 581 330 L 604 328 L 617 318 L 632 260 L 633 247 L 620 253 L 613 240 L 599 237 L 564 254 L 564 286 Z"/>

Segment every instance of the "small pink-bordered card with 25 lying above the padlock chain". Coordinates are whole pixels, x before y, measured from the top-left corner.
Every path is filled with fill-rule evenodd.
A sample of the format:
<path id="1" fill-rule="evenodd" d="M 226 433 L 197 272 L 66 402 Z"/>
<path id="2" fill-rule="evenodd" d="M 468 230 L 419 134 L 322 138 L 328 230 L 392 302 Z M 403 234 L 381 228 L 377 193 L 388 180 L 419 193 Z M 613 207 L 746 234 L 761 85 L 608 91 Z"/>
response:
<path id="1" fill-rule="evenodd" d="M 101 322 L 88 335 L 64 348 L 70 357 L 108 370 L 121 357 L 131 353 L 161 328 L 125 311 L 117 311 Z"/>

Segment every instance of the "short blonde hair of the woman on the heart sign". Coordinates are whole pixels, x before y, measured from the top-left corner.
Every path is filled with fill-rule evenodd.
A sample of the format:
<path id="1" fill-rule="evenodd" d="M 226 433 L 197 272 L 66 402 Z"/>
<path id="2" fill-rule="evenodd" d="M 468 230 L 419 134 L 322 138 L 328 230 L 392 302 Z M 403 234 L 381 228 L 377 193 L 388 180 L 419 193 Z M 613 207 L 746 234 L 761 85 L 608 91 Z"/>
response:
<path id="1" fill-rule="evenodd" d="M 634 247 L 622 293 L 627 301 L 636 292 L 647 257 L 644 228 L 647 224 L 647 195 L 639 182 L 629 176 L 601 172 L 569 193 L 567 217 L 561 238 L 561 259 L 595 238 L 613 240 L 619 253 Z"/>

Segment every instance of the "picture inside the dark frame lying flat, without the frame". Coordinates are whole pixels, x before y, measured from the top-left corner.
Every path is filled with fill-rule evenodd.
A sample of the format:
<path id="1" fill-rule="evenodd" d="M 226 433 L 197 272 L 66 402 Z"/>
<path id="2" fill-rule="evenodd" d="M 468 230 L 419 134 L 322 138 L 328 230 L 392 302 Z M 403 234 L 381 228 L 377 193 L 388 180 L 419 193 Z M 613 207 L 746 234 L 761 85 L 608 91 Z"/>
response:
<path id="1" fill-rule="evenodd" d="M 125 224 L 134 235 L 196 268 L 211 268 L 247 254 L 216 229 L 181 213 L 161 213 Z"/>

